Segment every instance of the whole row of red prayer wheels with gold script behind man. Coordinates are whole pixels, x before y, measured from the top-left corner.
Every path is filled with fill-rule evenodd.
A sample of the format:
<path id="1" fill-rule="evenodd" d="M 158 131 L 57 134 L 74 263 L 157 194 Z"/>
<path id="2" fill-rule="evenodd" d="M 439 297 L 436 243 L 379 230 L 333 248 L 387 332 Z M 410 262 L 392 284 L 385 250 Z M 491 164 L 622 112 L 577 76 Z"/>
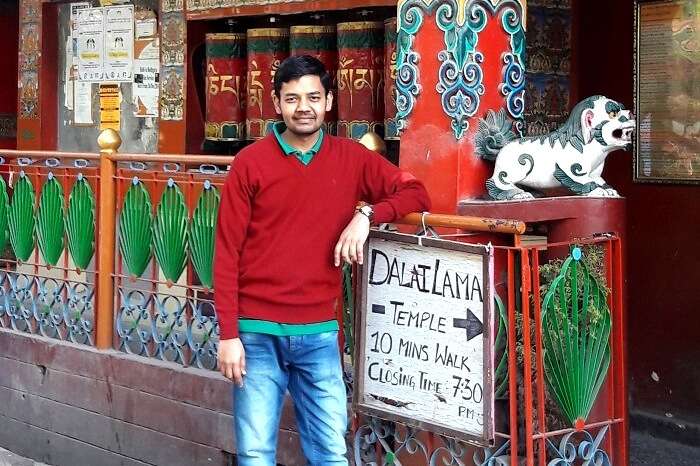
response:
<path id="1" fill-rule="evenodd" d="M 265 137 L 279 120 L 273 79 L 290 55 L 312 55 L 326 67 L 336 96 L 324 128 L 360 139 L 396 130 L 396 18 L 331 26 L 248 29 L 207 34 L 205 137 L 243 141 Z"/>

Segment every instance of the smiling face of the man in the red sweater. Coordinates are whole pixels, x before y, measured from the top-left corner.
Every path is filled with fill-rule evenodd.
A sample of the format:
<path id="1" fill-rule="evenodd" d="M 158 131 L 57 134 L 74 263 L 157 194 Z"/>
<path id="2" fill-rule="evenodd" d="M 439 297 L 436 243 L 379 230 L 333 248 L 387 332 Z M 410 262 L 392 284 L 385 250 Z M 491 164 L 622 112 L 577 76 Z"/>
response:
<path id="1" fill-rule="evenodd" d="M 273 94 L 272 100 L 287 129 L 300 136 L 318 131 L 333 105 L 333 95 L 326 95 L 321 79 L 313 75 L 283 83 L 280 96 Z"/>

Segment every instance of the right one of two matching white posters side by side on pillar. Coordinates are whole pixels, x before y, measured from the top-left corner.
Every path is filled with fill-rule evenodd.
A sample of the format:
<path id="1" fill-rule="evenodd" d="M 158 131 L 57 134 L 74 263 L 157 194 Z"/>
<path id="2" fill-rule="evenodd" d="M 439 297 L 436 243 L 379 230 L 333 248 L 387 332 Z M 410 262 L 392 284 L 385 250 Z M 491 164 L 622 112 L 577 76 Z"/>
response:
<path id="1" fill-rule="evenodd" d="M 105 11 L 104 79 L 131 82 L 134 59 L 134 6 L 113 6 Z"/>

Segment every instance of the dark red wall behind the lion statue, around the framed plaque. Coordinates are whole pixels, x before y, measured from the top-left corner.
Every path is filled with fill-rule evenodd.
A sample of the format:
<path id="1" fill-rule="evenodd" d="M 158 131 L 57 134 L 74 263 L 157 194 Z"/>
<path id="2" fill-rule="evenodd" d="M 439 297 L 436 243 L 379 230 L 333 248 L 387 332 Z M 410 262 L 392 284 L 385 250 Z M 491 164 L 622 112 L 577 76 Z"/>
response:
<path id="1" fill-rule="evenodd" d="M 576 0 L 578 95 L 633 105 L 632 0 Z M 632 154 L 604 178 L 628 198 L 628 361 L 632 408 L 700 421 L 700 186 L 633 183 Z M 659 381 L 652 379 L 655 372 Z"/>

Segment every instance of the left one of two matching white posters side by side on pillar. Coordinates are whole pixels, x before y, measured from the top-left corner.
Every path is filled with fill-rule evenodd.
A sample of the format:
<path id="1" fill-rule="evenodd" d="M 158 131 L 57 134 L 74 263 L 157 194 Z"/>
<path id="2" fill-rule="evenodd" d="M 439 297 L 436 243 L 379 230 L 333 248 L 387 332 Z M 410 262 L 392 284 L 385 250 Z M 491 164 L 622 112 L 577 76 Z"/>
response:
<path id="1" fill-rule="evenodd" d="M 104 75 L 104 12 L 86 8 L 77 12 L 78 77 L 81 81 L 101 81 Z"/>

